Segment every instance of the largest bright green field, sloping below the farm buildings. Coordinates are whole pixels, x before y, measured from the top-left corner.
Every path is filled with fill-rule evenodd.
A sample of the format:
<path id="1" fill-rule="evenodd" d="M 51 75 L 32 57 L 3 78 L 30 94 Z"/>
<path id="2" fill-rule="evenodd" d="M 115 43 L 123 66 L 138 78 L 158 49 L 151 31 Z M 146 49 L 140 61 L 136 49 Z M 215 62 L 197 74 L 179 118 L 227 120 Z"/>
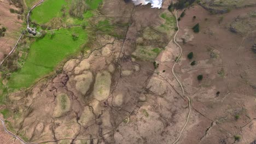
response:
<path id="1" fill-rule="evenodd" d="M 49 33 L 31 45 L 25 64 L 10 76 L 9 89 L 31 86 L 34 81 L 53 71 L 67 56 L 77 52 L 80 45 L 87 41 L 87 33 L 81 27 L 56 30 L 52 39 Z M 78 35 L 78 39 L 72 38 L 73 33 Z"/>

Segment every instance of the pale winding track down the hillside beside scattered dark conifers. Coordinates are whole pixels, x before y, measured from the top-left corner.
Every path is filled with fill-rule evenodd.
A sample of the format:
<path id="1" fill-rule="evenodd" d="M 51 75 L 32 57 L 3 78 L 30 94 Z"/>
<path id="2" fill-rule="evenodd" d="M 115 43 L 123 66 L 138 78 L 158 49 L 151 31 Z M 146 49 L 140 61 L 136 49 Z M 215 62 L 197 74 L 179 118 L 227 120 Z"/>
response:
<path id="1" fill-rule="evenodd" d="M 181 50 L 181 53 L 179 53 L 179 57 L 177 58 L 177 60 L 174 62 L 173 66 L 172 66 L 172 74 L 173 74 L 173 76 L 175 77 L 175 79 L 178 81 L 179 85 L 180 85 L 181 88 L 182 88 L 182 95 L 183 95 L 185 98 L 188 99 L 189 112 L 188 112 L 188 116 L 187 116 L 186 122 L 185 122 L 185 124 L 184 124 L 182 130 L 181 130 L 181 132 L 179 133 L 179 136 L 178 136 L 178 138 L 176 139 L 176 141 L 173 142 L 173 144 L 177 143 L 177 142 L 179 141 L 179 139 L 181 139 L 181 135 L 182 135 L 182 133 L 183 133 L 185 127 L 187 126 L 187 124 L 188 124 L 188 122 L 189 122 L 189 116 L 190 116 L 190 113 L 191 113 L 191 105 L 190 105 L 191 101 L 190 101 L 190 98 L 189 98 L 187 95 L 185 95 L 183 85 L 182 85 L 181 81 L 179 81 L 179 79 L 178 79 L 178 77 L 176 76 L 176 74 L 174 73 L 174 67 L 175 67 L 175 65 L 177 64 L 179 58 L 181 58 L 181 56 L 182 56 L 182 47 L 181 47 L 181 45 L 179 45 L 179 44 L 177 43 L 177 41 L 176 41 L 176 35 L 177 35 L 178 32 L 179 32 L 179 23 L 178 23 L 178 19 L 177 19 L 177 12 L 178 12 L 178 11 L 179 11 L 179 10 L 177 10 L 176 13 L 175 13 L 176 25 L 177 25 L 177 27 L 178 27 L 178 31 L 177 31 L 176 34 L 174 35 L 173 41 L 174 41 L 174 43 L 179 47 L 179 49 Z"/>

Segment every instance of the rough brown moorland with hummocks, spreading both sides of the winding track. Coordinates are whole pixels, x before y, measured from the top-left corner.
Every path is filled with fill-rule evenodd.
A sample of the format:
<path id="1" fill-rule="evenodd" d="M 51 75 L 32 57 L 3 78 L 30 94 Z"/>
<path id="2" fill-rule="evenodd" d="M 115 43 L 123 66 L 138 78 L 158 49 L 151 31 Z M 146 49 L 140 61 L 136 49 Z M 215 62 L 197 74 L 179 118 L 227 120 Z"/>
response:
<path id="1" fill-rule="evenodd" d="M 252 11 L 211 15 L 196 5 L 179 21 L 177 41 L 183 56 L 175 71 L 192 105 L 179 143 L 254 141 L 256 65 L 251 46 L 255 34 L 230 31 L 238 15 L 246 20 Z M 32 142 L 74 137 L 88 140 L 57 143 L 172 143 L 177 139 L 188 103 L 171 71 L 179 54 L 172 41 L 173 15 L 149 5 L 134 7 L 109 0 L 91 21 L 106 18 L 127 23 L 118 31 L 124 39 L 99 31 L 91 50 L 67 61 L 59 74 L 10 94 L 4 108 L 10 110 L 6 120 L 11 131 Z M 196 23 L 200 23 L 199 33 L 191 30 Z M 189 52 L 194 52 L 194 66 L 187 59 Z M 200 82 L 199 74 L 203 75 Z M 240 135 L 240 140 L 235 141 L 234 135 Z"/>

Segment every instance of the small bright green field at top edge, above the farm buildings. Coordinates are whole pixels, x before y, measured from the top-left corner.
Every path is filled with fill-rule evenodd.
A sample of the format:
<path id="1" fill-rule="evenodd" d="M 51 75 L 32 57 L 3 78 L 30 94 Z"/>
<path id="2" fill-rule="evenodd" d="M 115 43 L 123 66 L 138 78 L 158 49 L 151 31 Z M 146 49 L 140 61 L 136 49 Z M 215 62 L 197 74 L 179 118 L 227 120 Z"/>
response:
<path id="1" fill-rule="evenodd" d="M 37 23 L 46 23 L 53 17 L 61 17 L 62 5 L 66 5 L 65 0 L 45 0 L 38 7 L 34 8 L 31 14 L 31 20 Z"/>

